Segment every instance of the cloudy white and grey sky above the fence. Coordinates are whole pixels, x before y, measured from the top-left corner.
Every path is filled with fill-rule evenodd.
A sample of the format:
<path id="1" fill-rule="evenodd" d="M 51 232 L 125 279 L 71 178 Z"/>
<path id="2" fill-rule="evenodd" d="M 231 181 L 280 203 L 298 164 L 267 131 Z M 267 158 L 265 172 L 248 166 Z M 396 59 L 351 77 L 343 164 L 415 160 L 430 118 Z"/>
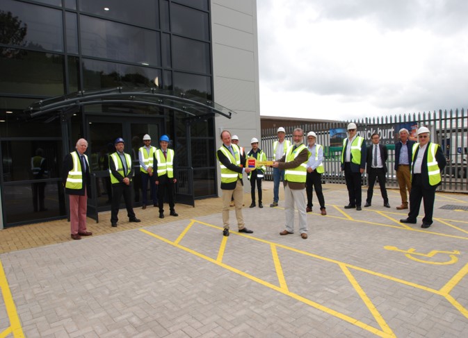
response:
<path id="1" fill-rule="evenodd" d="M 261 115 L 468 108 L 467 0 L 257 0 Z"/>

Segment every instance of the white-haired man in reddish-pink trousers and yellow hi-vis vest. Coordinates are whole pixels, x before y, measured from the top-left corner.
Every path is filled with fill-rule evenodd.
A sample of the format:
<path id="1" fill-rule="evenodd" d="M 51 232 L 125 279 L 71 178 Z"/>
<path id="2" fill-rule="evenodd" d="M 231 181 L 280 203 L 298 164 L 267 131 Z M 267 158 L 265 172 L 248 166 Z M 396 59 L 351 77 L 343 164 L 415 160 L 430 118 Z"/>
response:
<path id="1" fill-rule="evenodd" d="M 81 236 L 90 236 L 86 230 L 86 210 L 88 197 L 91 197 L 91 175 L 88 156 L 88 142 L 79 139 L 76 142 L 76 151 L 69 153 L 63 160 L 62 179 L 65 194 L 70 201 L 70 228 L 72 239 L 81 239 Z"/>

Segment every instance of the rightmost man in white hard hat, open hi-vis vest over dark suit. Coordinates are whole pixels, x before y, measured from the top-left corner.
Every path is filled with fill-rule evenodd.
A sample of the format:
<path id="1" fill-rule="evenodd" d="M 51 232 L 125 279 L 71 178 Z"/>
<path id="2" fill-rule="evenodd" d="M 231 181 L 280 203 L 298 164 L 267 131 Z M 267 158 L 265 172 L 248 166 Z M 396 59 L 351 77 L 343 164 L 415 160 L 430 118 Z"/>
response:
<path id="1" fill-rule="evenodd" d="M 440 173 L 446 165 L 446 158 L 439 144 L 430 142 L 430 130 L 421 127 L 417 132 L 418 141 L 412 149 L 412 176 L 410 193 L 410 212 L 401 223 L 416 223 L 424 200 L 424 218 L 421 228 L 429 228 L 433 223 L 435 189 L 442 182 Z"/>

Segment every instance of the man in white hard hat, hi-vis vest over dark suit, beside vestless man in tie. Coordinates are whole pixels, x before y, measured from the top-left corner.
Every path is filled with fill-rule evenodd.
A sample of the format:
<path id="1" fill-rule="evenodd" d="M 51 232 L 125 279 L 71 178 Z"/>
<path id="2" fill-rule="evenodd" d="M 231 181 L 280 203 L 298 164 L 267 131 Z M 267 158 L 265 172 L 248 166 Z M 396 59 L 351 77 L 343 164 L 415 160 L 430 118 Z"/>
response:
<path id="1" fill-rule="evenodd" d="M 343 141 L 341 150 L 341 170 L 344 170 L 346 187 L 348 188 L 349 203 L 345 209 L 356 208 L 362 210 L 362 173 L 366 168 L 366 141 L 357 136 L 357 126 L 353 122 L 348 124 L 348 137 Z"/>

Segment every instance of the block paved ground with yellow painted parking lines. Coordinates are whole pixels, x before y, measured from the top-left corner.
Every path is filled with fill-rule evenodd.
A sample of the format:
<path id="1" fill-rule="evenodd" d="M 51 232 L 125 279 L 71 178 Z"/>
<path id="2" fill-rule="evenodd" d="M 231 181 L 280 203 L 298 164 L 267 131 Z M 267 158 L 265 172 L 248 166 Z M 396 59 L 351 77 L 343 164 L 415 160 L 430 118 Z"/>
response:
<path id="1" fill-rule="evenodd" d="M 316 203 L 304 240 L 279 235 L 272 187 L 263 209 L 244 196 L 251 235 L 234 210 L 221 235 L 220 198 L 163 220 L 136 209 L 142 223 L 118 228 L 99 214 L 81 241 L 67 221 L 1 230 L 0 337 L 468 337 L 467 195 L 437 193 L 422 229 L 398 222 L 395 189 L 391 209 L 377 188 L 357 211 L 326 184 L 328 215 Z"/>

